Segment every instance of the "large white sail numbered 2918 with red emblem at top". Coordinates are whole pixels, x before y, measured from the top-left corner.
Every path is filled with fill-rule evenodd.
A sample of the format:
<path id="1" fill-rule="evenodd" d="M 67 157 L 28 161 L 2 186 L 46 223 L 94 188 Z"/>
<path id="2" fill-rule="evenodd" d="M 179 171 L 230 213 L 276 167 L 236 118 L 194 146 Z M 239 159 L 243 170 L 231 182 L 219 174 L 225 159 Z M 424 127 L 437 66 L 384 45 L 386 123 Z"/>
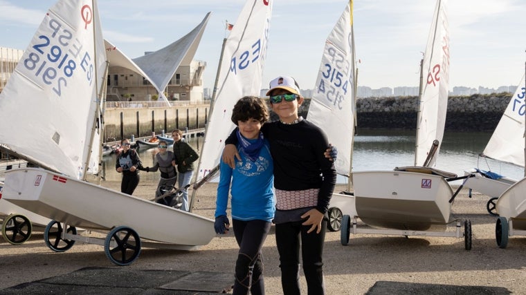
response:
<path id="1" fill-rule="evenodd" d="M 58 1 L 0 94 L 0 143 L 30 162 L 82 178 L 105 56 L 95 1 Z"/>

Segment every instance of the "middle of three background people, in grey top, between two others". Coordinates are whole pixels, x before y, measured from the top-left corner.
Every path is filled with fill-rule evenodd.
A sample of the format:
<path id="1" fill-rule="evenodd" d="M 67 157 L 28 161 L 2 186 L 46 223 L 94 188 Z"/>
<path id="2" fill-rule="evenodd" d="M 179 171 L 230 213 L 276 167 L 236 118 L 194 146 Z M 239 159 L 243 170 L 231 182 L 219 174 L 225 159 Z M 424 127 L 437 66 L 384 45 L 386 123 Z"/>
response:
<path id="1" fill-rule="evenodd" d="M 161 171 L 161 180 L 157 184 L 155 197 L 163 195 L 166 191 L 170 191 L 175 186 L 177 180 L 177 171 L 175 170 L 175 156 L 172 151 L 167 150 L 168 144 L 164 140 L 159 141 L 158 149 L 154 158 L 154 166 L 145 167 L 146 172 Z M 165 198 L 157 199 L 156 202 L 172 207 L 172 200 L 174 196 L 167 196 Z"/>

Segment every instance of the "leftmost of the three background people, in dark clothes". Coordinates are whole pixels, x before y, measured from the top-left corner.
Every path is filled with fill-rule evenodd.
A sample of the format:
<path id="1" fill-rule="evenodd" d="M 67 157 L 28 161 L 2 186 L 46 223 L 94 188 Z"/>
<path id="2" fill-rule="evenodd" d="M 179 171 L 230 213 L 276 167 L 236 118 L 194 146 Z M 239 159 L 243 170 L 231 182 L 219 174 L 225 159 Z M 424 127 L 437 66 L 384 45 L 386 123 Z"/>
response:
<path id="1" fill-rule="evenodd" d="M 139 184 L 138 168 L 142 166 L 138 153 L 129 148 L 129 140 L 120 141 L 123 151 L 117 156 L 115 169 L 118 173 L 123 173 L 123 181 L 120 183 L 120 191 L 132 195 Z"/>

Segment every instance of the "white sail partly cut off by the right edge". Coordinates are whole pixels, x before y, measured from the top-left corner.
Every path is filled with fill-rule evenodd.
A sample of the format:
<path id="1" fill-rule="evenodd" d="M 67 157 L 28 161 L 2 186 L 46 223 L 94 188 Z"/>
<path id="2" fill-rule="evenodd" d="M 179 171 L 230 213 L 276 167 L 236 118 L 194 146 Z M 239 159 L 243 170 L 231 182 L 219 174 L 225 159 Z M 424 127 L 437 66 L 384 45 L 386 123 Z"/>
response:
<path id="1" fill-rule="evenodd" d="M 524 166 L 525 76 L 500 118 L 483 154 L 489 158 Z"/>

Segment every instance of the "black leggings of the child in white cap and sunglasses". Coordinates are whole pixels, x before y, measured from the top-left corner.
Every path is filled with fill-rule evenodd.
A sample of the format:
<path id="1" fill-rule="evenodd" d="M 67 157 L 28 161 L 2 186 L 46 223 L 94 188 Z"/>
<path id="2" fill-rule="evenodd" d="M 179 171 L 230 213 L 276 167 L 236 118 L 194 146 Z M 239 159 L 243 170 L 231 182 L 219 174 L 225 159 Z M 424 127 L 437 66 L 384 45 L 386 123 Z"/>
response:
<path id="1" fill-rule="evenodd" d="M 321 222 L 320 234 L 307 231 L 310 225 L 303 221 L 275 225 L 275 242 L 280 253 L 281 285 L 284 295 L 300 295 L 300 247 L 303 259 L 303 273 L 307 280 L 309 295 L 325 294 L 323 284 L 323 242 L 327 220 Z"/>

